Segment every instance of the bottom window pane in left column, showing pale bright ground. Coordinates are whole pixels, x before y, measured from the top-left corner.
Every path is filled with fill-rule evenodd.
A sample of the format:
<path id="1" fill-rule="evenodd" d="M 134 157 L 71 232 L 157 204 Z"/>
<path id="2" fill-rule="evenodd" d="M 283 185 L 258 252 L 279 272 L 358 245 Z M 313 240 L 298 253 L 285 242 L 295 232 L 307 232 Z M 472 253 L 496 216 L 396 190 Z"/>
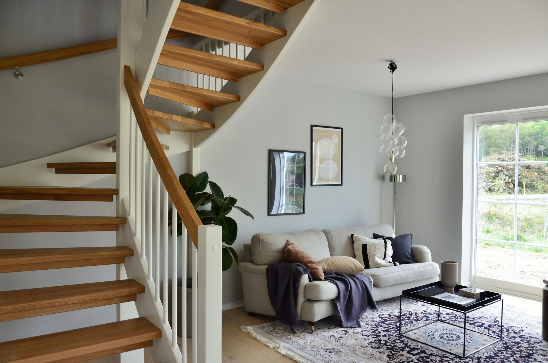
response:
<path id="1" fill-rule="evenodd" d="M 513 280 L 513 243 L 477 241 L 476 275 Z"/>

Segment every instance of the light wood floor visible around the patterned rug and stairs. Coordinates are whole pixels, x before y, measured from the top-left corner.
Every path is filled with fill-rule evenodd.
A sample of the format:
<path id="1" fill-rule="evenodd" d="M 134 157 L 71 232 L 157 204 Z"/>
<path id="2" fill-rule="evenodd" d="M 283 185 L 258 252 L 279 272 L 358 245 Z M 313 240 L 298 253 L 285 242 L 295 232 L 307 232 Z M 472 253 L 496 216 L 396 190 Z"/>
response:
<path id="1" fill-rule="evenodd" d="M 541 302 L 523 297 L 503 294 L 504 307 L 541 315 Z M 258 325 L 275 320 L 272 316 L 249 316 L 243 307 L 222 311 L 222 361 L 223 362 L 293 362 L 293 360 L 267 347 L 240 330 L 242 325 Z M 179 343 L 181 337 L 179 337 Z M 192 362 L 192 339 L 187 338 L 187 361 Z M 96 359 L 93 363 L 118 363 L 117 356 Z M 145 348 L 145 363 L 155 363 L 148 348 Z"/>

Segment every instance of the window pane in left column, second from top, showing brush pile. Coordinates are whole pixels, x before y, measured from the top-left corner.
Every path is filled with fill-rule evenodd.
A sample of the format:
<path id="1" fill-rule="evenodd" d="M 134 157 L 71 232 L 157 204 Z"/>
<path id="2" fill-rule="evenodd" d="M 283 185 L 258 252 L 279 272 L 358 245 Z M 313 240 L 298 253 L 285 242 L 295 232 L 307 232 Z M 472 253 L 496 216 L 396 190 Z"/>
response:
<path id="1" fill-rule="evenodd" d="M 478 166 L 478 199 L 515 201 L 516 166 L 508 164 Z"/>

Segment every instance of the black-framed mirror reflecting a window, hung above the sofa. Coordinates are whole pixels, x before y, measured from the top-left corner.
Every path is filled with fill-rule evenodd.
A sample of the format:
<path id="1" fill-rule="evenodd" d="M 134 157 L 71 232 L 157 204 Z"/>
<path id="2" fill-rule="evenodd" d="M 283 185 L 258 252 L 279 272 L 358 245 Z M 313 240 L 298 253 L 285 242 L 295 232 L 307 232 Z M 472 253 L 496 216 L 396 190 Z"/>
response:
<path id="1" fill-rule="evenodd" d="M 306 152 L 269 150 L 268 215 L 305 214 Z"/>

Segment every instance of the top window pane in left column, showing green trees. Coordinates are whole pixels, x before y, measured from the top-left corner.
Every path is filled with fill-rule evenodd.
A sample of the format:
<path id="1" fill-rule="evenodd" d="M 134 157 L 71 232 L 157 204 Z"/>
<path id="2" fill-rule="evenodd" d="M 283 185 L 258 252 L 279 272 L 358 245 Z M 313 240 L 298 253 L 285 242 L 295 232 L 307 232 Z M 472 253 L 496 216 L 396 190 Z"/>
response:
<path id="1" fill-rule="evenodd" d="M 478 127 L 478 161 L 515 161 L 516 124 Z"/>

